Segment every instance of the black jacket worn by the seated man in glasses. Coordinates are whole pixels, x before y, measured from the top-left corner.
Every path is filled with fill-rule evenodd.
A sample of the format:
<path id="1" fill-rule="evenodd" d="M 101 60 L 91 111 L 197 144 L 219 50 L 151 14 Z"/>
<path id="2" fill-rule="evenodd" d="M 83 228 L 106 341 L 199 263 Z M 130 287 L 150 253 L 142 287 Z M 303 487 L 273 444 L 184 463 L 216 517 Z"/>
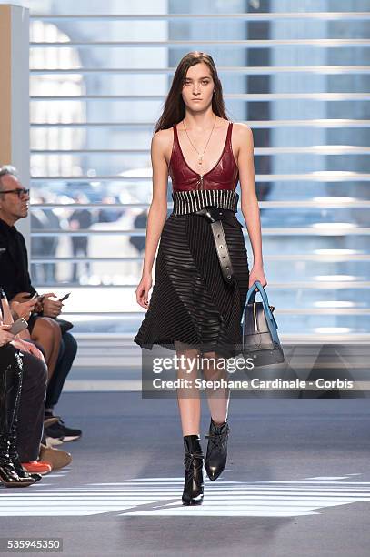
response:
<path id="1" fill-rule="evenodd" d="M 27 248 L 25 238 L 15 228 L 9 227 L 0 218 L 0 284 L 5 290 L 7 299 L 11 300 L 20 292 L 35 294 L 28 272 Z"/>

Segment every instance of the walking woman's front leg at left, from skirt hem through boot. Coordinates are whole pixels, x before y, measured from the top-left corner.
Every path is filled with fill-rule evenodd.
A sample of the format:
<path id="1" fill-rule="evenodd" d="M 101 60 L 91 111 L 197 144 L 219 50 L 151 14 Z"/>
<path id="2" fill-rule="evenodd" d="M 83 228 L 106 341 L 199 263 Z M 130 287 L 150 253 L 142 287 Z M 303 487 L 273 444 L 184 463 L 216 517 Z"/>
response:
<path id="1" fill-rule="evenodd" d="M 199 505 L 203 502 L 204 454 L 200 445 L 200 413 L 201 400 L 199 389 L 195 386 L 198 377 L 198 350 L 177 342 L 176 353 L 184 357 L 177 371 L 177 379 L 191 381 L 191 387 L 177 389 L 177 401 L 181 416 L 185 449 L 185 482 L 182 501 L 184 505 Z"/>

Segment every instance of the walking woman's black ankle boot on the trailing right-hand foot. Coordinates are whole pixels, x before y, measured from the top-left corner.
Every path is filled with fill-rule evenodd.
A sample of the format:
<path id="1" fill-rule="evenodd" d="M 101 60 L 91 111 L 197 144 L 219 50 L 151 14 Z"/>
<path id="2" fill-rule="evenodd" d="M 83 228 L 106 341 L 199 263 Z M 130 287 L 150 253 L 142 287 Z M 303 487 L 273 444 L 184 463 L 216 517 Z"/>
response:
<path id="1" fill-rule="evenodd" d="M 205 439 L 208 439 L 205 455 L 205 471 L 211 481 L 217 480 L 221 472 L 225 469 L 228 435 L 229 424 L 227 421 L 217 426 L 211 418 L 209 434 L 205 435 Z"/>

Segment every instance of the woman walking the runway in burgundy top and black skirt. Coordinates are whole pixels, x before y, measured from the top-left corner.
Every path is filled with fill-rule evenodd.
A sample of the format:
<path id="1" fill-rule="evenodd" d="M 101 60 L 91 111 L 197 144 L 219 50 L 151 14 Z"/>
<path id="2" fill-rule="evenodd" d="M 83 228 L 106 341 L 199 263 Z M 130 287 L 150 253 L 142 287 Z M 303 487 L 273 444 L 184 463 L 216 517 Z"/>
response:
<path id="1" fill-rule="evenodd" d="M 176 68 L 163 115 L 152 139 L 153 199 L 148 212 L 143 275 L 137 302 L 147 309 L 135 342 L 176 350 L 186 359 L 208 358 L 205 380 L 225 377 L 217 359 L 230 358 L 241 345 L 246 293 L 255 280 L 267 284 L 261 225 L 255 196 L 253 136 L 245 124 L 226 116 L 221 82 L 211 56 L 191 52 Z M 168 174 L 173 213 L 167 218 Z M 242 224 L 235 218 L 240 181 L 241 208 L 254 265 L 248 268 Z M 155 285 L 152 268 L 155 262 Z M 194 380 L 196 369 L 178 371 Z M 216 480 L 225 469 L 230 392 L 207 390 L 211 423 L 205 471 Z M 177 390 L 185 447 L 184 504 L 204 497 L 204 453 L 200 444 L 199 390 Z"/>

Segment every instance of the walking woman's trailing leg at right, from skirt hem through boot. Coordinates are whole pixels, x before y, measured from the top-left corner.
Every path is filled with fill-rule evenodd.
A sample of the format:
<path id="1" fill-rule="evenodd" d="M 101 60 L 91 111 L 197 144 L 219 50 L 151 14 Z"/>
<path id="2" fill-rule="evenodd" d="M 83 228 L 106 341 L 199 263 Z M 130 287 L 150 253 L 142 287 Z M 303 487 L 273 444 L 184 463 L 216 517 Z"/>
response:
<path id="1" fill-rule="evenodd" d="M 215 352 L 206 352 L 202 355 L 203 373 L 205 380 L 228 380 L 226 360 L 217 356 Z M 215 387 L 217 387 L 215 385 Z M 230 400 L 230 389 L 219 386 L 216 389 L 206 389 L 211 423 L 209 425 L 207 451 L 205 455 L 205 471 L 208 478 L 215 481 L 225 469 L 227 461 L 227 440 L 229 424 L 227 412 Z"/>

